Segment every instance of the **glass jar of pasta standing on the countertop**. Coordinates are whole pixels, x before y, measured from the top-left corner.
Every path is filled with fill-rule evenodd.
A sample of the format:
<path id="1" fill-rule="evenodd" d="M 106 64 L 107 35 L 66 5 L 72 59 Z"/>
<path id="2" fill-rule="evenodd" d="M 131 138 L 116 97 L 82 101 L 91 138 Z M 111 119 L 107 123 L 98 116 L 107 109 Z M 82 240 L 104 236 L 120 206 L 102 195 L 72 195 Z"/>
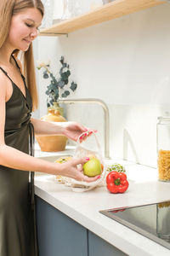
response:
<path id="1" fill-rule="evenodd" d="M 159 180 L 170 182 L 170 117 L 158 117 L 157 167 Z"/>

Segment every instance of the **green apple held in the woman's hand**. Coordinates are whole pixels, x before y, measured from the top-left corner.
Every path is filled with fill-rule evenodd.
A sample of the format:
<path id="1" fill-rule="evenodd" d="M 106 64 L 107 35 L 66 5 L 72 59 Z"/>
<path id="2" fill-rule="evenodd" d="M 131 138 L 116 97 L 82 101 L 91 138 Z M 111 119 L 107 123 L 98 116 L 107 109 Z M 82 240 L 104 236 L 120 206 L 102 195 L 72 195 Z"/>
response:
<path id="1" fill-rule="evenodd" d="M 83 173 L 84 175 L 87 175 L 88 177 L 94 177 L 96 175 L 100 175 L 102 172 L 101 164 L 99 159 L 92 158 L 91 160 L 88 160 L 83 165 Z"/>

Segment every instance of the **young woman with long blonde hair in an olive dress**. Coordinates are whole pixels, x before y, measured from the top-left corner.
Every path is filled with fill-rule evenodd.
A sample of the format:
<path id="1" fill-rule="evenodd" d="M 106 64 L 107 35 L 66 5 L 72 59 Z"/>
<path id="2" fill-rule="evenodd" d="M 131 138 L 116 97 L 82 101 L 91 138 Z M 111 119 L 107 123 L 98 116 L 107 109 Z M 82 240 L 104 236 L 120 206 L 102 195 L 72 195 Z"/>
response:
<path id="1" fill-rule="evenodd" d="M 74 141 L 88 131 L 76 122 L 56 124 L 31 118 L 32 109 L 37 108 L 31 42 L 37 38 L 42 16 L 40 0 L 0 1 L 0 256 L 38 255 L 34 172 L 87 182 L 98 178 L 84 176 L 77 168 L 85 159 L 60 165 L 32 156 L 34 131 L 42 136 L 62 134 Z"/>

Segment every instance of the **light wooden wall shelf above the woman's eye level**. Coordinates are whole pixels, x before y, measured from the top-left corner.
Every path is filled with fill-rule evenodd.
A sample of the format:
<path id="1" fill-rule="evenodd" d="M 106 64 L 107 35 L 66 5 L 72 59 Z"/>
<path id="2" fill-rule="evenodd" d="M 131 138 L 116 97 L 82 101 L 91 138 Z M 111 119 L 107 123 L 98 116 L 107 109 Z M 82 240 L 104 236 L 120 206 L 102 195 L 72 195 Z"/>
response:
<path id="1" fill-rule="evenodd" d="M 115 0 L 84 15 L 61 21 L 53 26 L 44 28 L 39 35 L 59 36 L 68 34 L 88 26 L 94 26 L 104 21 L 113 20 L 123 15 L 129 15 L 162 3 L 167 2 L 161 0 Z"/>

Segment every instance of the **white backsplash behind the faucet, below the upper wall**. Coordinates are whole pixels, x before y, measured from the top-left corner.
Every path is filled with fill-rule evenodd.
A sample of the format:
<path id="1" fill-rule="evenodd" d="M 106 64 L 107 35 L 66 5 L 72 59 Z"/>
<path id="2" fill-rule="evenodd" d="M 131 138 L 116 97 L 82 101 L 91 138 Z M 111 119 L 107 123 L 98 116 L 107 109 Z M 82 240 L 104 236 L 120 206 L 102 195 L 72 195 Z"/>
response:
<path id="1" fill-rule="evenodd" d="M 93 109 L 93 111 L 92 111 Z M 156 167 L 156 123 L 158 116 L 170 113 L 170 106 L 109 105 L 110 156 Z M 94 104 L 66 106 L 66 118 L 98 130 L 104 148 L 104 113 Z"/>

